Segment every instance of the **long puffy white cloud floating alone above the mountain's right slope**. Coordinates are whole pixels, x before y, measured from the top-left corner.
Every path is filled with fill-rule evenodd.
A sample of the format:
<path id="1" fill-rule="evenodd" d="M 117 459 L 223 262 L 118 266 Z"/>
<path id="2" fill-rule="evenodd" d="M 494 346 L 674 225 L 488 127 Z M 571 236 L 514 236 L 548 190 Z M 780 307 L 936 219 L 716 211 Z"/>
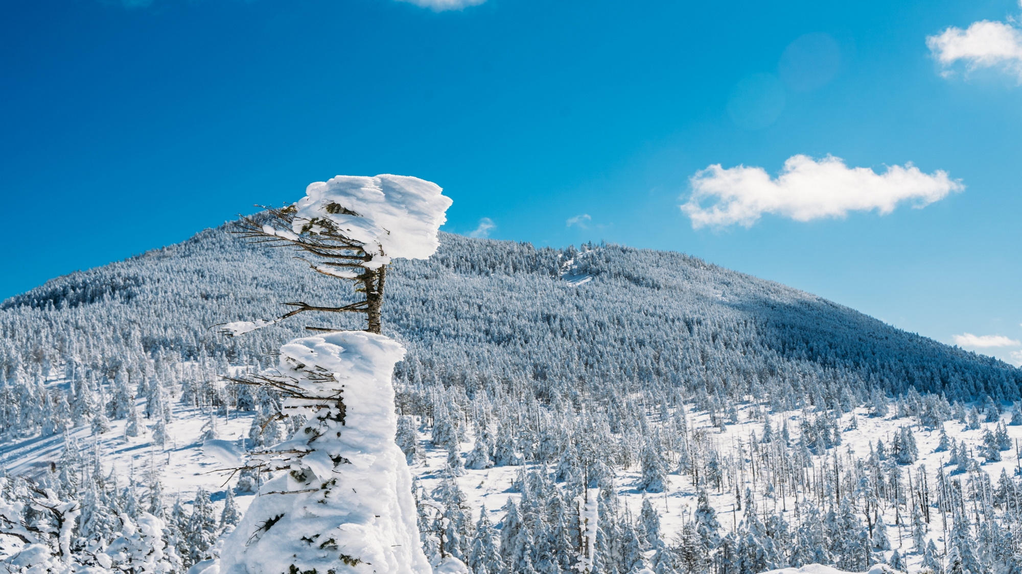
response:
<path id="1" fill-rule="evenodd" d="M 869 168 L 848 168 L 840 157 L 814 159 L 801 154 L 789 157 L 776 179 L 762 168 L 725 170 L 717 163 L 697 172 L 689 182 L 692 195 L 681 207 L 694 229 L 751 227 L 763 213 L 799 222 L 873 209 L 886 214 L 901 201 L 923 207 L 965 189 L 946 172 L 924 174 L 912 163 L 891 165 L 878 175 Z"/>

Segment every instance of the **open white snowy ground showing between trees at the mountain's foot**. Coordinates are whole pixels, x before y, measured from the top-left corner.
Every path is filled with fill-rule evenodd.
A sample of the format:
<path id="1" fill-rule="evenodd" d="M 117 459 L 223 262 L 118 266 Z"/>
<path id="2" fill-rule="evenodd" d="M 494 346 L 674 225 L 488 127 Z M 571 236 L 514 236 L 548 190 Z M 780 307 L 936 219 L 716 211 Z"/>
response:
<path id="1" fill-rule="evenodd" d="M 53 383 L 59 384 L 59 383 Z M 139 401 L 140 406 L 142 401 Z M 711 440 L 715 442 L 723 455 L 728 456 L 740 448 L 740 445 L 748 446 L 750 437 L 761 435 L 762 422 L 749 420 L 749 412 L 752 405 L 743 405 L 738 411 L 738 424 L 729 424 L 725 431 L 719 431 L 717 427 L 710 424 L 709 415 L 704 412 L 690 412 L 688 414 L 689 426 L 692 431 L 703 430 L 708 433 Z M 792 440 L 797 439 L 798 423 L 802 416 L 801 412 L 794 411 L 784 414 L 771 415 L 772 423 L 776 429 L 781 427 L 782 421 L 788 421 L 788 427 L 792 432 Z M 198 488 L 203 488 L 212 492 L 214 504 L 218 512 L 223 507 L 224 488 L 228 484 L 233 485 L 233 480 L 229 473 L 218 472 L 224 468 L 221 460 L 218 460 L 213 449 L 203 451 L 200 437 L 202 436 L 208 422 L 213 418 L 216 421 L 217 434 L 220 439 L 230 442 L 243 442 L 248 436 L 248 431 L 252 423 L 252 415 L 246 413 L 231 413 L 227 417 L 211 417 L 211 413 L 201 409 L 194 409 L 182 405 L 180 402 L 174 403 L 174 417 L 168 425 L 169 439 L 162 447 L 152 443 L 149 433 L 144 433 L 137 437 L 125 436 L 125 421 L 112 421 L 111 430 L 100 436 L 93 436 L 90 429 L 78 428 L 66 434 L 68 439 L 77 441 L 83 450 L 98 448 L 102 461 L 104 472 L 118 482 L 119 485 L 128 484 L 133 476 L 139 477 L 143 473 L 156 473 L 160 477 L 165 495 L 168 498 L 180 496 L 183 504 L 191 504 L 191 494 Z M 1005 423 L 1009 416 L 1003 416 Z M 852 421 L 854 419 L 854 423 Z M 144 420 L 143 420 L 144 421 Z M 144 421 L 145 422 L 145 421 Z M 932 481 L 938 468 L 946 464 L 948 452 L 936 452 L 939 441 L 939 432 L 922 428 L 918 421 L 911 418 L 895 419 L 893 415 L 884 418 L 871 418 L 866 409 L 861 408 L 852 413 L 845 414 L 841 418 L 843 429 L 843 443 L 836 447 L 842 457 L 853 453 L 856 458 L 866 458 L 871 449 L 871 445 L 876 444 L 878 439 L 885 444 L 891 444 L 894 434 L 902 426 L 911 425 L 919 448 L 919 460 L 912 466 L 925 465 L 928 469 L 930 480 Z M 857 428 L 853 428 L 857 426 Z M 949 438 L 955 441 L 964 440 L 966 445 L 972 450 L 972 457 L 979 459 L 975 453 L 983 442 L 985 429 L 991 431 L 996 423 L 981 423 L 980 428 L 968 430 L 966 425 L 957 421 L 944 423 L 944 429 Z M 1022 426 L 1008 426 L 1008 433 L 1013 442 L 1022 439 Z M 429 429 L 422 427 L 419 433 L 420 449 L 424 457 L 420 462 L 411 468 L 413 476 L 418 478 L 419 483 L 425 491 L 430 491 L 439 486 L 446 476 L 445 469 L 448 464 L 448 452 L 437 448 L 429 442 Z M 472 448 L 471 436 L 469 441 L 461 444 L 462 456 L 465 457 Z M 0 444 L 0 462 L 8 476 L 28 474 L 39 476 L 45 473 L 48 467 L 59 462 L 65 443 L 62 435 L 48 438 L 28 438 L 24 440 L 8 441 Z M 832 457 L 834 449 L 829 451 Z M 816 458 L 818 462 L 821 457 Z M 986 463 L 978 467 L 981 471 L 990 475 L 991 481 L 995 484 L 1003 470 L 1009 475 L 1014 475 L 1022 465 L 1018 452 L 1010 449 L 1003 452 L 1001 462 Z M 537 468 L 537 465 L 525 465 L 524 467 L 496 467 L 484 470 L 465 470 L 464 474 L 457 477 L 458 484 L 468 497 L 468 504 L 474 513 L 473 520 L 478 519 L 479 509 L 485 508 L 491 514 L 490 520 L 494 524 L 499 524 L 502 519 L 502 509 L 508 498 L 520 497 L 520 493 L 514 491 L 512 483 L 523 470 Z M 954 468 L 946 468 L 950 473 Z M 644 498 L 649 498 L 652 505 L 660 513 L 661 524 L 666 538 L 669 539 L 678 532 L 686 521 L 691 520 L 693 511 L 697 503 L 697 489 L 692 483 L 689 475 L 669 474 L 667 480 L 669 488 L 662 493 L 646 493 L 636 488 L 636 483 L 641 476 L 638 466 L 630 469 L 618 469 L 616 472 L 617 494 L 624 505 L 626 505 L 633 516 L 638 516 Z M 751 479 L 748 486 L 753 487 Z M 788 513 L 795 508 L 795 496 L 787 493 L 781 496 L 774 493 L 764 496 L 759 489 L 754 489 L 760 508 L 770 511 L 780 512 L 784 509 Z M 734 491 L 713 492 L 710 491 L 710 498 L 713 507 L 717 511 L 717 518 L 722 525 L 722 531 L 728 532 L 737 527 L 737 523 L 742 520 L 742 513 L 736 510 L 736 495 Z M 238 506 L 244 510 L 252 500 L 251 494 L 240 493 L 236 498 Z M 891 511 L 893 512 L 893 511 Z M 903 511 L 901 516 L 902 524 L 908 519 Z M 884 516 L 887 525 L 887 534 L 891 541 L 890 555 L 895 549 L 899 551 L 910 565 L 909 570 L 915 571 L 922 560 L 918 554 L 912 554 L 913 543 L 911 540 L 910 528 L 895 525 L 893 514 Z M 938 548 L 943 547 L 944 533 L 938 525 L 934 524 L 929 537 L 934 540 Z M 797 571 L 787 569 L 785 574 L 803 572 L 805 574 L 825 574 L 823 571 Z M 831 574 L 829 571 L 826 574 Z"/>

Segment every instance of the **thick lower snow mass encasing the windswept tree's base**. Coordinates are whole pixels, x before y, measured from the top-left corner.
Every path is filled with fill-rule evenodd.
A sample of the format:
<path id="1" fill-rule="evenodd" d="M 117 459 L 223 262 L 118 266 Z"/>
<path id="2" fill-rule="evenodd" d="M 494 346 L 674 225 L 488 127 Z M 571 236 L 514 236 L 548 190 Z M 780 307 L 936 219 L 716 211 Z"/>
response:
<path id="1" fill-rule="evenodd" d="M 273 450 L 309 453 L 290 463 L 292 472 L 263 485 L 224 545 L 220 572 L 430 573 L 411 473 L 394 442 L 390 378 L 404 347 L 382 335 L 339 331 L 293 339 L 280 350 L 280 373 L 296 379 L 307 395 L 341 393 L 343 423 L 313 423 L 322 409 L 309 400 L 284 402 L 285 413 L 296 410 L 311 422 Z M 333 376 L 310 380 L 310 373 Z M 295 471 L 306 474 L 304 482 Z"/>

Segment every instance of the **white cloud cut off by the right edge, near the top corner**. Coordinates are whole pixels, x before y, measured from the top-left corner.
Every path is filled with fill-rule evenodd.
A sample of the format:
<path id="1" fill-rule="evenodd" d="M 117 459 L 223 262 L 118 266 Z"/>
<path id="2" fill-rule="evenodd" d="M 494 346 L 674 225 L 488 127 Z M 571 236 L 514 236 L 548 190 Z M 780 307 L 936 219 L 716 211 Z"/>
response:
<path id="1" fill-rule="evenodd" d="M 927 37 L 926 45 L 944 67 L 961 60 L 969 69 L 1001 67 L 1022 81 L 1022 30 L 1009 23 L 982 20 L 966 30 L 951 27 Z"/>

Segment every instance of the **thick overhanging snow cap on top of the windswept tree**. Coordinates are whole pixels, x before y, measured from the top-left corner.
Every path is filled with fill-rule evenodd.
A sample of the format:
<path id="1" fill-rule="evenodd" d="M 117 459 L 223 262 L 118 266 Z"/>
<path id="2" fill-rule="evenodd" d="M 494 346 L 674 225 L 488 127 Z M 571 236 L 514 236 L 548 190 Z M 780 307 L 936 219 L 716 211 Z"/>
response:
<path id="1" fill-rule="evenodd" d="M 385 257 L 368 261 L 370 269 L 385 265 L 386 258 L 425 259 L 439 246 L 436 231 L 451 206 L 442 192 L 432 182 L 408 176 L 337 176 L 309 185 L 294 204 L 293 231 L 316 233 L 317 221 L 330 220 L 365 244 L 367 252 L 375 251 L 373 246 L 382 249 Z"/>

